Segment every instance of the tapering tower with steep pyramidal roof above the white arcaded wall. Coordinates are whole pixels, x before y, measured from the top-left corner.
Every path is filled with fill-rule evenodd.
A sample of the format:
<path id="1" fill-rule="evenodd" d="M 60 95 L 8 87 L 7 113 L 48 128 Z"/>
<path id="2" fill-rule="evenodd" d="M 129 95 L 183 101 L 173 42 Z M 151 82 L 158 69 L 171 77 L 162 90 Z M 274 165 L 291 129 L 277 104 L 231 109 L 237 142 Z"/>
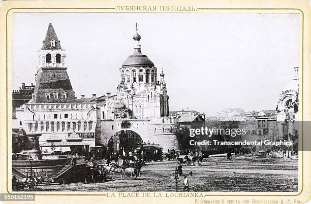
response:
<path id="1" fill-rule="evenodd" d="M 70 103 L 76 99 L 67 74 L 65 58 L 65 50 L 61 48 L 53 25 L 50 23 L 43 46 L 38 51 L 33 103 Z"/>

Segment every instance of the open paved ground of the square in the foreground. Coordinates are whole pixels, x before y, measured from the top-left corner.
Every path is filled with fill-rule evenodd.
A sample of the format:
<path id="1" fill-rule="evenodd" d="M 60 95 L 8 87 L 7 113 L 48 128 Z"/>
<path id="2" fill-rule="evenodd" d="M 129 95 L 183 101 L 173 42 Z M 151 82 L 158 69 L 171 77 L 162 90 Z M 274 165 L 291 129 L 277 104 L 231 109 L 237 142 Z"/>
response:
<path id="1" fill-rule="evenodd" d="M 202 166 L 183 166 L 190 186 L 197 191 L 298 191 L 298 160 L 259 158 L 259 154 L 209 157 Z M 102 183 L 40 186 L 39 191 L 175 191 L 173 172 L 177 161 L 147 163 L 142 175 Z M 178 188 L 182 190 L 183 177 Z"/>

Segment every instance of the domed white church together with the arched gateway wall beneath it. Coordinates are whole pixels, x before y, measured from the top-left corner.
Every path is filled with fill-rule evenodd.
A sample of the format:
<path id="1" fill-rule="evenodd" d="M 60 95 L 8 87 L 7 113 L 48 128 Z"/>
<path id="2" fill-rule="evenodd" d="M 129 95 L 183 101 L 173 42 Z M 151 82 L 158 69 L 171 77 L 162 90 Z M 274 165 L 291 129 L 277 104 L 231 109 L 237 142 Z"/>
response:
<path id="1" fill-rule="evenodd" d="M 179 149 L 175 135 L 179 118 L 169 116 L 165 75 L 162 71 L 159 78 L 157 67 L 141 52 L 137 24 L 133 39 L 134 52 L 118 69 L 116 94 L 97 98 L 98 124 L 101 123 L 97 140 L 106 145 L 118 131 L 131 130 L 144 143 L 160 144 L 164 150 Z"/>

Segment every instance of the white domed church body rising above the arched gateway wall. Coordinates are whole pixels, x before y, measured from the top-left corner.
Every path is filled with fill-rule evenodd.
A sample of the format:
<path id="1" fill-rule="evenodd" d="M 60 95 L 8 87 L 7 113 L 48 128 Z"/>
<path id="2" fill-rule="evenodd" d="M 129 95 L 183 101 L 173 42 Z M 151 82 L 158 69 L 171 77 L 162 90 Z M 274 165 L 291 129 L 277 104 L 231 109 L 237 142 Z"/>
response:
<path id="1" fill-rule="evenodd" d="M 120 83 L 117 86 L 116 101 L 131 109 L 133 118 L 168 116 L 169 96 L 164 74 L 161 73 L 161 81 L 158 81 L 157 67 L 141 52 L 141 36 L 137 31 L 138 24 L 135 25 L 134 52 L 119 68 Z"/>

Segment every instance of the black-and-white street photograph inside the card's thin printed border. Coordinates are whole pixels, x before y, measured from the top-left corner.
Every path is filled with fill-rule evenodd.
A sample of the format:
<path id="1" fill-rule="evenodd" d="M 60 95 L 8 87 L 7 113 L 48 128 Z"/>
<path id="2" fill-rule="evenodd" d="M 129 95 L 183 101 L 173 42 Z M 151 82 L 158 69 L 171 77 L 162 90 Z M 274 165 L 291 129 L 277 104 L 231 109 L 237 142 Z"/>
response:
<path id="1" fill-rule="evenodd" d="M 14 13 L 12 191 L 298 192 L 301 23 Z"/>

